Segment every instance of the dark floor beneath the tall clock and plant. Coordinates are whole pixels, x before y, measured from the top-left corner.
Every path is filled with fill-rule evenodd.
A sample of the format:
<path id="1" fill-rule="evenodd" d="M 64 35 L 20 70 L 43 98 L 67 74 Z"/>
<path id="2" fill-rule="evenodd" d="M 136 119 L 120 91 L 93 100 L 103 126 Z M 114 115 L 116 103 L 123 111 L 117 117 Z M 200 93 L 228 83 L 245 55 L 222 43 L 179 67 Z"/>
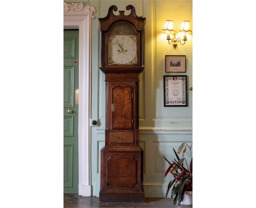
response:
<path id="1" fill-rule="evenodd" d="M 172 208 L 174 206 L 170 198 L 145 198 L 144 203 L 100 203 L 98 197 L 81 197 L 77 194 L 64 194 L 64 208 L 96 208 L 96 207 L 157 207 Z M 190 208 L 192 206 L 181 205 L 180 208 Z"/>

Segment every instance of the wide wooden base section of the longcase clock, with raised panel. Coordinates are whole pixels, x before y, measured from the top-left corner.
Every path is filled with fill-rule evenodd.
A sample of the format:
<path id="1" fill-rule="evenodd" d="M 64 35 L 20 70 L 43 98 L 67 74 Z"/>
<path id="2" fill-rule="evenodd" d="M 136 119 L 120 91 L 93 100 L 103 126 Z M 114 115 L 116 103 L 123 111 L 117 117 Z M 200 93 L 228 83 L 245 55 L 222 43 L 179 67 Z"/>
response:
<path id="1" fill-rule="evenodd" d="M 101 160 L 100 201 L 144 202 L 143 151 L 139 147 L 103 148 Z"/>

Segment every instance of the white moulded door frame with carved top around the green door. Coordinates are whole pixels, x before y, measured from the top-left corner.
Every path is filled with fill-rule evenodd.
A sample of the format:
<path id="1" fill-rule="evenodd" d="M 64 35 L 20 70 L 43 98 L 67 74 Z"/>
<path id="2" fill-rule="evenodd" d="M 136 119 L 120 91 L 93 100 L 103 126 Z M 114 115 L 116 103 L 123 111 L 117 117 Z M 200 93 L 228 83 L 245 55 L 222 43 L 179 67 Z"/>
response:
<path id="1" fill-rule="evenodd" d="M 95 8 L 64 2 L 64 29 L 79 29 L 78 194 L 91 196 L 91 19 Z"/>

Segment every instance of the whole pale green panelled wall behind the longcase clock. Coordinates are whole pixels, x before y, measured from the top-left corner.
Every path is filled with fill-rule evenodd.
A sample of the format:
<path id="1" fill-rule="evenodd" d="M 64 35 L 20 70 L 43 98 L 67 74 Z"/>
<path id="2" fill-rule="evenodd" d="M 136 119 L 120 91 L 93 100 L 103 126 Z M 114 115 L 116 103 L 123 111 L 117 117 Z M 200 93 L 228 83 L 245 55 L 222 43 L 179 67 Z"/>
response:
<path id="1" fill-rule="evenodd" d="M 176 50 L 168 45 L 166 34 L 162 33 L 165 20 L 173 20 L 174 29 L 179 30 L 183 20 L 192 25 L 192 1 L 94 1 L 88 5 L 96 8 L 96 19 L 92 20 L 92 110 L 91 118 L 100 119 L 100 126 L 91 127 L 91 168 L 92 192 L 98 195 L 100 190 L 100 150 L 104 146 L 105 126 L 105 82 L 100 71 L 100 32 L 98 18 L 105 17 L 110 5 L 125 10 L 132 4 L 138 16 L 146 17 L 145 30 L 145 70 L 139 83 L 139 128 L 140 145 L 144 149 L 144 189 L 146 197 L 164 197 L 170 177 L 165 179 L 167 163 L 162 155 L 172 157 L 172 148 L 181 142 L 192 141 L 192 91 L 188 93 L 188 107 L 164 107 L 163 76 L 165 73 L 165 55 L 185 55 L 188 87 L 192 86 L 192 39 Z M 129 14 L 130 11 L 125 11 Z M 118 12 L 116 13 L 118 15 Z"/>

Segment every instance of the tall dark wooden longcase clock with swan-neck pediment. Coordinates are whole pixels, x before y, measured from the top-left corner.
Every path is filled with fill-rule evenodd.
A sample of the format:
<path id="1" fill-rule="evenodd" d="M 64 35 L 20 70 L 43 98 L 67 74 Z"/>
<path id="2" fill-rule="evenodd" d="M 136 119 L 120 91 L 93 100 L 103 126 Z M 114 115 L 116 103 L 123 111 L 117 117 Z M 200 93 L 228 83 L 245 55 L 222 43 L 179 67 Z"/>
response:
<path id="1" fill-rule="evenodd" d="M 100 201 L 144 201 L 143 150 L 139 148 L 138 82 L 144 69 L 146 19 L 112 5 L 100 18 L 101 71 L 106 81 L 105 146 L 101 150 Z"/>

